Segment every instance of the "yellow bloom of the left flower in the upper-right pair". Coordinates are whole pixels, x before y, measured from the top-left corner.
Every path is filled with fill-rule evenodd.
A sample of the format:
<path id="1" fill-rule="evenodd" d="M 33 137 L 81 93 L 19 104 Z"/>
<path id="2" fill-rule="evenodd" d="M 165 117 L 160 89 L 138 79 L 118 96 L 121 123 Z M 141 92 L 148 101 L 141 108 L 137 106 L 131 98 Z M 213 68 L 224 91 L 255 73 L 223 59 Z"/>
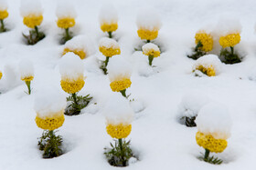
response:
<path id="1" fill-rule="evenodd" d="M 205 33 L 204 31 L 200 31 L 195 35 L 195 43 L 196 45 L 201 42 L 203 45 L 202 47 L 199 47 L 202 51 L 208 52 L 212 50 L 213 47 L 213 38 L 211 35 Z"/>

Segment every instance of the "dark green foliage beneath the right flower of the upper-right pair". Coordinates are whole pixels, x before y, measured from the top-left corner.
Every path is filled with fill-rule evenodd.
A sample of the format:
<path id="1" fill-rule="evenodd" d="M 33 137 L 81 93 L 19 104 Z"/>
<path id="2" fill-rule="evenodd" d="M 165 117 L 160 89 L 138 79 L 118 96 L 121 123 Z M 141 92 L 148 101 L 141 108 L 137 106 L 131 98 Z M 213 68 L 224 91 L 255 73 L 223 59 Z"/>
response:
<path id="1" fill-rule="evenodd" d="M 224 63 L 225 64 L 236 64 L 240 63 L 240 57 L 239 55 L 234 53 L 234 47 L 229 48 L 222 48 L 220 51 L 220 57 L 224 58 Z"/>

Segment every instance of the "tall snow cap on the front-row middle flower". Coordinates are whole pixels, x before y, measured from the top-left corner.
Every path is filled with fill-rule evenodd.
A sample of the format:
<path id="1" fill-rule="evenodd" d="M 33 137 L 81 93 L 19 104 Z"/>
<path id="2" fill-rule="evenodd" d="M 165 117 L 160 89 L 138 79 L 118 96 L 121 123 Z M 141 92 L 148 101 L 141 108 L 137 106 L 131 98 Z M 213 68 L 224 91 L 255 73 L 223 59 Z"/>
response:
<path id="1" fill-rule="evenodd" d="M 129 101 L 122 95 L 112 95 L 108 104 L 104 108 L 104 115 L 107 124 L 130 125 L 133 121 L 133 109 Z"/>

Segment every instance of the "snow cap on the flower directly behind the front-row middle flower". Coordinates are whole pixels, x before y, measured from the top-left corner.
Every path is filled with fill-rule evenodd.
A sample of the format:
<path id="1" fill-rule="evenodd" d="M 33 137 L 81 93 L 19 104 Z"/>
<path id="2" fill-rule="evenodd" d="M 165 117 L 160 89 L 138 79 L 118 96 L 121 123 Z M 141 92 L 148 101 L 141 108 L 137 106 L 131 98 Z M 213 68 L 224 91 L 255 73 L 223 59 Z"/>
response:
<path id="1" fill-rule="evenodd" d="M 133 67 L 130 63 L 128 63 L 123 56 L 114 55 L 110 60 L 108 66 L 108 75 L 110 81 L 122 80 L 123 78 L 130 79 Z"/>

